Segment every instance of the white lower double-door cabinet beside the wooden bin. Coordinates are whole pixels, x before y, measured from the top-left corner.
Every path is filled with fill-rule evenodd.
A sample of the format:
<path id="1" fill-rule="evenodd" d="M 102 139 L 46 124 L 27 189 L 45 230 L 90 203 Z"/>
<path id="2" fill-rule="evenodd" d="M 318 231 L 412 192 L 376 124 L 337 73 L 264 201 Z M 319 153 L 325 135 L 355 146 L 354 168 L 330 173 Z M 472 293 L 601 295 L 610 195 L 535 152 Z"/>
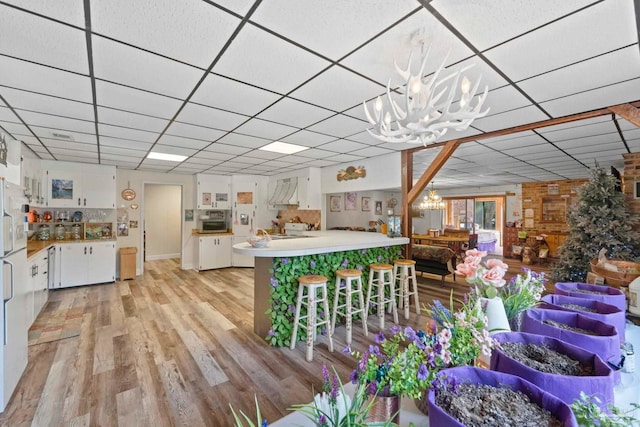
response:
<path id="1" fill-rule="evenodd" d="M 91 285 L 116 280 L 115 242 L 61 243 L 60 281 L 54 287 Z"/>

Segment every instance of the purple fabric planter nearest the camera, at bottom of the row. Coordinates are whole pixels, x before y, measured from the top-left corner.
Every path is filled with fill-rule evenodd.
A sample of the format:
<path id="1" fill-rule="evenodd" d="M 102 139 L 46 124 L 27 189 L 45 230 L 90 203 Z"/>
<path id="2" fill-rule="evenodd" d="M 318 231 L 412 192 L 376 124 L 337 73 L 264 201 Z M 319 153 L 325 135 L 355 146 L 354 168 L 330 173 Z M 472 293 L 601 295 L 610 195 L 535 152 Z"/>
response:
<path id="1" fill-rule="evenodd" d="M 494 387 L 509 387 L 511 390 L 519 390 L 526 394 L 532 402 L 537 403 L 547 409 L 553 416 L 558 418 L 563 426 L 578 426 L 571 408 L 558 397 L 550 394 L 529 381 L 515 375 L 490 371 L 488 369 L 474 368 L 471 366 L 460 366 L 457 368 L 444 369 L 438 375 L 445 375 L 454 378 L 457 383 L 466 384 L 488 384 Z M 429 425 L 437 427 L 464 427 L 444 409 L 436 404 L 436 391 L 429 389 Z"/>

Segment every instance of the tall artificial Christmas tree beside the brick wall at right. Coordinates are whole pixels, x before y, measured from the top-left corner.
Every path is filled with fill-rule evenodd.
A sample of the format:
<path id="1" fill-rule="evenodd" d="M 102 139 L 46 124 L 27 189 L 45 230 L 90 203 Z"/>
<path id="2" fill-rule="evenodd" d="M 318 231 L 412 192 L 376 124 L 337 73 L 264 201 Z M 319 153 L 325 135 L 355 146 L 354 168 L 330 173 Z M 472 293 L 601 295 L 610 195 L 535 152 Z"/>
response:
<path id="1" fill-rule="evenodd" d="M 584 282 L 589 261 L 596 259 L 603 248 L 610 259 L 638 259 L 638 217 L 626 209 L 624 195 L 616 190 L 616 184 L 614 176 L 595 165 L 591 180 L 579 190 L 579 201 L 567 215 L 570 234 L 552 269 L 555 281 Z"/>

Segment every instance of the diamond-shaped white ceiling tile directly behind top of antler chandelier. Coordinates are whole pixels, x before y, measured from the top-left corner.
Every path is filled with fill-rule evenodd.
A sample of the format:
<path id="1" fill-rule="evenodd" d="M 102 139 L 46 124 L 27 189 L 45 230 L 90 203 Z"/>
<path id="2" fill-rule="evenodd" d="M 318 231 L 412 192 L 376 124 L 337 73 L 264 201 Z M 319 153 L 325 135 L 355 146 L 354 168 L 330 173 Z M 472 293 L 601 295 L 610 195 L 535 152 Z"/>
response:
<path id="1" fill-rule="evenodd" d="M 420 10 L 349 55 L 341 63 L 383 85 L 380 88 L 382 90 L 362 98 L 363 101 L 383 93 L 389 79 L 392 87 L 406 83 L 395 71 L 393 64 L 397 62 L 398 66 L 406 69 L 409 55 L 414 51 L 411 68 L 417 72 L 423 56 L 423 47 L 425 51 L 431 48 L 425 74 L 433 73 L 443 61 L 445 66 L 449 66 L 473 55 L 473 52 L 455 38 L 440 21 L 426 10 Z"/>

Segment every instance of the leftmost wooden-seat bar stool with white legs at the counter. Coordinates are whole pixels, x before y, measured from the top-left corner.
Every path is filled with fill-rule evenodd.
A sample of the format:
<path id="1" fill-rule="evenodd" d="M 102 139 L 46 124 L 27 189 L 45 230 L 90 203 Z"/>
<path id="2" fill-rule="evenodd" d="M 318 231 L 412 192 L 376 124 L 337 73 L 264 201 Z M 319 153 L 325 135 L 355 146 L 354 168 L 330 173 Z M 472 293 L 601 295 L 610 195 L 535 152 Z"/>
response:
<path id="1" fill-rule="evenodd" d="M 321 295 L 318 296 L 318 290 Z M 305 294 L 306 291 L 306 294 Z M 302 304 L 307 307 L 307 314 L 301 316 Z M 317 320 L 317 304 L 322 303 L 324 310 L 324 320 Z M 316 340 L 318 326 L 327 325 L 327 338 L 329 339 L 329 351 L 333 351 L 332 331 L 329 330 L 329 298 L 327 297 L 327 278 L 324 276 L 307 275 L 298 278 L 298 302 L 296 303 L 296 315 L 293 321 L 293 335 L 291 336 L 290 348 L 296 347 L 298 327 L 303 327 L 307 332 L 307 362 L 313 360 L 313 342 Z M 304 324 L 300 320 L 306 319 Z"/>

